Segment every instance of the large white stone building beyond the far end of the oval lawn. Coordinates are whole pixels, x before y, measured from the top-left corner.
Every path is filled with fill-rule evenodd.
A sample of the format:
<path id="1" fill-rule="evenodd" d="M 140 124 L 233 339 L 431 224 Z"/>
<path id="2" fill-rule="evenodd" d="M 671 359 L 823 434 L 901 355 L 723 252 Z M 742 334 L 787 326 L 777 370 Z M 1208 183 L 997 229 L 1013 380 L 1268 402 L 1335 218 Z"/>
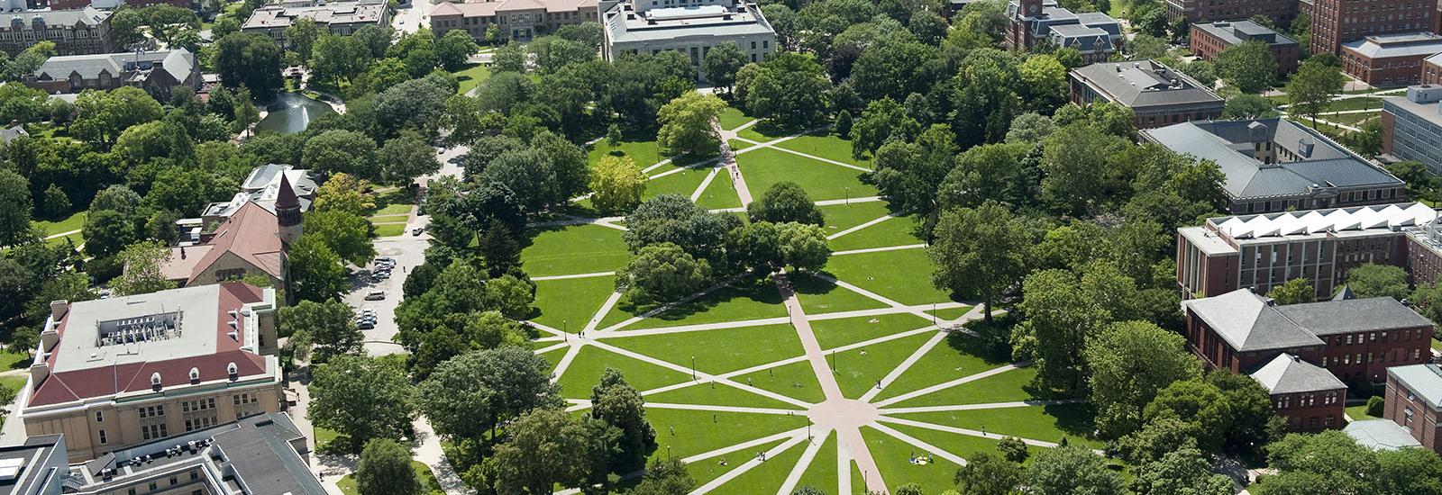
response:
<path id="1" fill-rule="evenodd" d="M 601 55 L 681 52 L 696 66 L 721 43 L 735 43 L 751 62 L 776 52 L 776 30 L 757 4 L 746 0 L 601 0 L 606 40 Z"/>

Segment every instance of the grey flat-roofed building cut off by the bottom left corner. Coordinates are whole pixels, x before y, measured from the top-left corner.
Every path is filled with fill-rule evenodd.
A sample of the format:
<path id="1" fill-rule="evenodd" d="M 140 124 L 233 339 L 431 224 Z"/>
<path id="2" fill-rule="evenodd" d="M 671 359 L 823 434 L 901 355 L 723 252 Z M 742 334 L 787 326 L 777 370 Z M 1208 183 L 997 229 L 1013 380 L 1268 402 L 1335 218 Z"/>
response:
<path id="1" fill-rule="evenodd" d="M 323 495 L 284 413 L 248 416 L 66 465 L 63 435 L 0 446 L 0 492 L 25 495 Z"/>

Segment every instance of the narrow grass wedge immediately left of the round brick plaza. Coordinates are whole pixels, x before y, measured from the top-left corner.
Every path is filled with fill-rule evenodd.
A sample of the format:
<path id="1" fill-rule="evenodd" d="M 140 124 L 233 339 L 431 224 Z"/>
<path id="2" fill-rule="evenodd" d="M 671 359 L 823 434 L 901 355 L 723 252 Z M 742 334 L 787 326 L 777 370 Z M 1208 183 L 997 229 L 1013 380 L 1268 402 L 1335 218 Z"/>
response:
<path id="1" fill-rule="evenodd" d="M 806 416 L 721 413 L 684 409 L 646 409 L 646 420 L 656 429 L 656 452 L 652 458 L 665 458 L 671 446 L 672 458 L 689 458 L 696 453 L 754 440 L 780 432 L 806 427 Z M 675 430 L 672 430 L 675 427 Z M 730 465 L 750 459 L 751 450 L 728 456 Z M 705 460 L 715 463 L 717 459 Z"/>

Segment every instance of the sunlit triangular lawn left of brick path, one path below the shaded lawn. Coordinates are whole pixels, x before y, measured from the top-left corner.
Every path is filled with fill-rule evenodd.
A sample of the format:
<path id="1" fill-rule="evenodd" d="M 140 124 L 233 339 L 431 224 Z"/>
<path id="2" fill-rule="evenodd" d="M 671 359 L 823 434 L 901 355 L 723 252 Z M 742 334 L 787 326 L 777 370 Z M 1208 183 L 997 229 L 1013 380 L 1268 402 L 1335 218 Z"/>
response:
<path id="1" fill-rule="evenodd" d="M 684 367 L 695 360 L 696 370 L 711 374 L 806 354 L 789 324 L 607 338 L 606 342 Z"/>

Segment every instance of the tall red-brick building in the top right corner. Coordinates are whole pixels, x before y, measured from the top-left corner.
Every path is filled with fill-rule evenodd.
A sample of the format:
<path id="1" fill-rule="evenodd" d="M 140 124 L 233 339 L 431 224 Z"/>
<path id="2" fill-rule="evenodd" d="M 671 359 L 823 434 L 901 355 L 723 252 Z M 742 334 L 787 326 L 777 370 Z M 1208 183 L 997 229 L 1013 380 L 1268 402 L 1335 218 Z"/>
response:
<path id="1" fill-rule="evenodd" d="M 1435 1 L 1315 0 L 1312 53 L 1340 53 L 1343 43 L 1367 36 L 1413 33 L 1432 29 Z"/>

